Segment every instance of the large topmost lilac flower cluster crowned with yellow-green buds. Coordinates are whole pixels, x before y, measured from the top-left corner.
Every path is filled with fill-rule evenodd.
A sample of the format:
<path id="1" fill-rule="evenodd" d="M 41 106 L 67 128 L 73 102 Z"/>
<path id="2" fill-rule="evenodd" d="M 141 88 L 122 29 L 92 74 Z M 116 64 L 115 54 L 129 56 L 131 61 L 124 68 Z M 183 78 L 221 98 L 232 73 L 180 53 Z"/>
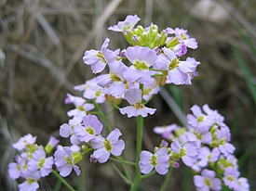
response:
<path id="1" fill-rule="evenodd" d="M 123 33 L 131 45 L 128 48 L 110 50 L 110 40 L 106 38 L 101 50 L 85 52 L 84 63 L 98 75 L 75 87 L 84 92 L 84 98 L 95 99 L 97 103 L 102 103 L 105 96 L 127 100 L 129 106 L 120 108 L 120 113 L 127 114 L 128 118 L 155 113 L 155 108 L 147 108 L 144 103 L 160 90 L 159 78 L 163 79 L 161 85 L 191 84 L 200 64 L 193 57 L 180 60 L 187 53 L 187 48 L 197 48 L 195 38 L 190 38 L 187 31 L 167 28 L 158 33 L 155 24 L 134 28 L 139 20 L 137 15 L 128 16 L 109 27 L 109 30 Z M 76 109 L 86 110 L 82 104 L 79 107 L 74 105 Z"/>

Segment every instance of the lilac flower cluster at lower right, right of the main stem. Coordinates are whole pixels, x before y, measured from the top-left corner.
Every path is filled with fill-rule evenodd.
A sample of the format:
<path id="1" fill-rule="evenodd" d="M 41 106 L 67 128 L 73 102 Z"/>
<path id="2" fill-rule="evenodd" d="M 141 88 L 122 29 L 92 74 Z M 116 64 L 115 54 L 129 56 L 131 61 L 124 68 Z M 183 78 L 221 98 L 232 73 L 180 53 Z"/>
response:
<path id="1" fill-rule="evenodd" d="M 155 134 L 161 134 L 165 141 L 155 148 L 155 154 L 141 152 L 141 172 L 149 173 L 155 167 L 156 172 L 165 174 L 168 166 L 177 167 L 182 159 L 198 173 L 194 176 L 196 190 L 221 190 L 222 184 L 232 190 L 249 190 L 248 180 L 239 177 L 235 146 L 230 143 L 230 130 L 222 115 L 208 105 L 203 109 L 195 105 L 191 110 L 186 127 L 155 127 Z"/>

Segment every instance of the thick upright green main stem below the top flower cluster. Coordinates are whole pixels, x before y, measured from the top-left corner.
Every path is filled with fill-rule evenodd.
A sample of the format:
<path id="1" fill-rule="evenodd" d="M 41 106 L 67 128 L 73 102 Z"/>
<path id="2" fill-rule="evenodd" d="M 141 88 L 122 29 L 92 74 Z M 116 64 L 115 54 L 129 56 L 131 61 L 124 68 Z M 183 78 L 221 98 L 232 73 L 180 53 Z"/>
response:
<path id="1" fill-rule="evenodd" d="M 131 185 L 131 191 L 137 191 L 139 185 L 141 184 L 141 171 L 139 166 L 140 155 L 141 155 L 141 147 L 142 147 L 142 134 L 143 134 L 143 118 L 138 116 L 137 118 L 137 144 L 136 144 L 136 176 L 134 183 Z"/>

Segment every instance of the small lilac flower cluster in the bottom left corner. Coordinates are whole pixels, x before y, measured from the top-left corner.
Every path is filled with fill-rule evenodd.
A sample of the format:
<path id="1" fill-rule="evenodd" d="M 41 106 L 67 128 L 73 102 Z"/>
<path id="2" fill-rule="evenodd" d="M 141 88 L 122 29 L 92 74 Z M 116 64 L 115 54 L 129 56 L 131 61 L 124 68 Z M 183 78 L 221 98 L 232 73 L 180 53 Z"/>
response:
<path id="1" fill-rule="evenodd" d="M 36 190 L 39 187 L 38 180 L 52 172 L 53 157 L 47 155 L 57 146 L 59 140 L 51 136 L 45 147 L 36 145 L 35 141 L 35 136 L 27 134 L 13 144 L 20 154 L 16 156 L 16 162 L 9 164 L 8 172 L 12 179 L 25 179 L 19 185 L 20 190 Z"/>

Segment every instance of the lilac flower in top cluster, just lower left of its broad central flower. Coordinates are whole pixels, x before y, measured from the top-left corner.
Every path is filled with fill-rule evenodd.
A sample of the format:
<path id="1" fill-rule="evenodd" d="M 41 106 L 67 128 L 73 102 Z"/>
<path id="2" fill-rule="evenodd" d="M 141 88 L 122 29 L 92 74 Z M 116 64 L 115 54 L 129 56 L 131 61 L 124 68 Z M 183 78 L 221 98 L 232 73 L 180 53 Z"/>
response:
<path id="1" fill-rule="evenodd" d="M 125 78 L 125 73 L 128 72 L 128 67 L 121 61 L 116 61 L 109 64 L 110 72 L 97 77 L 97 83 L 101 87 L 105 87 L 106 94 L 119 97 L 128 89 L 128 80 Z"/>

